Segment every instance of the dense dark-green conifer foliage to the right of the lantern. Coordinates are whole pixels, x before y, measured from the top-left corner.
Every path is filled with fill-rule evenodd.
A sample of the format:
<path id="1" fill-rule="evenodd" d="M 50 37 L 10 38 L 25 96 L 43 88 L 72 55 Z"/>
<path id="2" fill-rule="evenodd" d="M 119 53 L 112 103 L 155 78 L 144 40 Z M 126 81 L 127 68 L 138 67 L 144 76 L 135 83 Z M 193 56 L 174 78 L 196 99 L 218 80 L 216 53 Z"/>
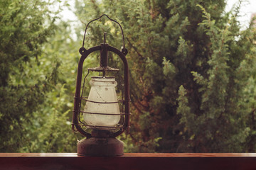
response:
<path id="1" fill-rule="evenodd" d="M 241 29 L 241 5 L 225 13 L 224 0 L 77 1 L 80 21 L 106 13 L 124 28 L 132 81 L 129 152 L 255 149 L 255 32 L 252 25 Z M 91 33 L 104 30 L 117 46 L 118 29 L 101 23 Z"/>

